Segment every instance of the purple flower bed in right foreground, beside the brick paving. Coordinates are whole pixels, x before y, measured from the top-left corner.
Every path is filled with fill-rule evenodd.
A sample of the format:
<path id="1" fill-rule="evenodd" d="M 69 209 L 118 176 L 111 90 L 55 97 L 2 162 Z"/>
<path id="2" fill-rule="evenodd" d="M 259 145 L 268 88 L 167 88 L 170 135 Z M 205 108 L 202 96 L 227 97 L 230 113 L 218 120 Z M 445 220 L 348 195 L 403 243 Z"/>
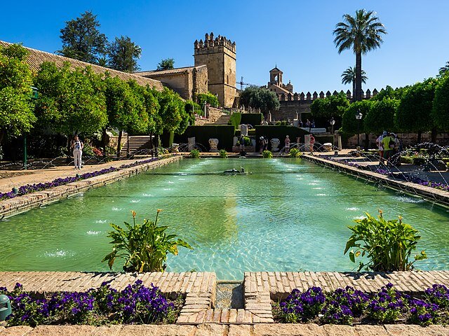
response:
<path id="1" fill-rule="evenodd" d="M 372 294 L 354 288 L 324 293 L 319 287 L 290 295 L 274 304 L 276 321 L 283 323 L 395 323 L 430 325 L 449 322 L 449 289 L 443 285 L 427 288 L 422 297 L 395 290 L 391 283 Z"/>

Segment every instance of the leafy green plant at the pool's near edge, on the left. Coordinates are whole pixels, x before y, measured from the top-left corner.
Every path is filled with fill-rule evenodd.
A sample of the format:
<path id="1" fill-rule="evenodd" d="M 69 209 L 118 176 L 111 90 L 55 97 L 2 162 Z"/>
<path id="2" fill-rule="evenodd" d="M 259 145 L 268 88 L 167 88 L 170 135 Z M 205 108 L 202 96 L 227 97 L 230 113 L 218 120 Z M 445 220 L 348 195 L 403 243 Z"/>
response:
<path id="1" fill-rule="evenodd" d="M 114 247 L 102 262 L 107 261 L 112 269 L 116 258 L 122 258 L 125 272 L 163 272 L 168 253 L 177 255 L 177 246 L 192 249 L 182 239 L 175 240 L 176 235 L 167 235 L 168 226 L 158 226 L 160 211 L 158 209 L 154 222 L 144 219 L 142 224 L 136 224 L 132 211 L 133 225 L 124 222 L 126 228 L 123 229 L 111 224 L 114 231 L 109 231 L 107 237 L 112 238 Z"/>

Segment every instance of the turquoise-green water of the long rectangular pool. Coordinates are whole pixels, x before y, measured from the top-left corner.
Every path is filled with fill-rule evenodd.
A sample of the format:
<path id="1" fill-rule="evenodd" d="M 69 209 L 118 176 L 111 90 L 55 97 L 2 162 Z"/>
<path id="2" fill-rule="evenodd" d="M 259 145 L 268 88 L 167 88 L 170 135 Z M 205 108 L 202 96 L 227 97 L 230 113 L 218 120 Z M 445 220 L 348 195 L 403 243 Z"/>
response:
<path id="1" fill-rule="evenodd" d="M 225 176 L 243 166 L 248 175 Z M 154 218 L 194 247 L 168 270 L 349 271 L 347 225 L 368 211 L 403 216 L 420 230 L 429 260 L 449 269 L 449 212 L 299 159 L 186 159 L 0 222 L 0 270 L 107 271 L 109 223 Z M 121 270 L 121 265 L 114 268 Z"/>

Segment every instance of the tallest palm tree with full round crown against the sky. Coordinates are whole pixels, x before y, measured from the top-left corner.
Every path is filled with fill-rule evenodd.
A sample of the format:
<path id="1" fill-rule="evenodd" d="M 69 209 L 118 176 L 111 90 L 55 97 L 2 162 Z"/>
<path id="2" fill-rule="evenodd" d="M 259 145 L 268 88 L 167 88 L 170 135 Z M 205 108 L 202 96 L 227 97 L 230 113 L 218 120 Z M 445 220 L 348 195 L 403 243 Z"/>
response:
<path id="1" fill-rule="evenodd" d="M 381 34 L 387 34 L 384 25 L 375 16 L 373 10 L 356 10 L 356 15 L 343 15 L 344 22 L 338 22 L 333 34 L 334 43 L 340 54 L 343 50 L 352 49 L 356 54 L 356 87 L 355 100 L 362 100 L 362 54 L 380 47 Z"/>

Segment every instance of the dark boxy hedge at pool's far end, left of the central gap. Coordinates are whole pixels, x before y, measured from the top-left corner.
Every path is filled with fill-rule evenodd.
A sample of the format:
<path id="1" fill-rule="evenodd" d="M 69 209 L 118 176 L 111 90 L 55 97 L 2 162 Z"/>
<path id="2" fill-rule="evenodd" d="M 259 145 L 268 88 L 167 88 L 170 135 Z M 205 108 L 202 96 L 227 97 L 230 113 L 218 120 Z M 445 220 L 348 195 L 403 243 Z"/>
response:
<path id="1" fill-rule="evenodd" d="M 195 142 L 203 145 L 206 150 L 210 149 L 209 139 L 218 139 L 218 149 L 226 149 L 226 151 L 231 152 L 234 140 L 234 126 L 188 126 L 184 134 L 175 134 L 175 141 L 178 144 L 187 144 L 187 138 L 191 137 L 195 137 Z"/>

